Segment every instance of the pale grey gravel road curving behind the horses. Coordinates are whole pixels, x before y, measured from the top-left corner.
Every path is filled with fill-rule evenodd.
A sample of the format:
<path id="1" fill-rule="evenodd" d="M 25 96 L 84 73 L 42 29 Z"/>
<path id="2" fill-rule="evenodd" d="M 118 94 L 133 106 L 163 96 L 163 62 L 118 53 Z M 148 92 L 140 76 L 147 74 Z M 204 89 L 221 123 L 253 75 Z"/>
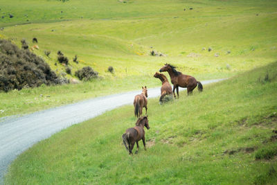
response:
<path id="1" fill-rule="evenodd" d="M 202 81 L 203 85 L 224 79 Z M 184 89 L 180 89 L 184 90 Z M 60 132 L 66 127 L 96 117 L 103 112 L 133 103 L 139 91 L 129 91 L 84 100 L 24 116 L 0 119 L 0 184 L 10 163 L 33 144 Z M 148 98 L 160 96 L 160 87 L 148 89 Z"/>

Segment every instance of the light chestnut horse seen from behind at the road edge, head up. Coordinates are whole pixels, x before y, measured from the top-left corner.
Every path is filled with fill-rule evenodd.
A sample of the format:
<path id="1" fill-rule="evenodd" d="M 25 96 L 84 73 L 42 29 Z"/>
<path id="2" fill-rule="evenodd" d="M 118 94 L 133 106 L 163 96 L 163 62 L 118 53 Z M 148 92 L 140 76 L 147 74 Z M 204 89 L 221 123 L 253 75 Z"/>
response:
<path id="1" fill-rule="evenodd" d="M 143 114 L 143 107 L 145 107 L 147 114 L 147 97 L 148 97 L 148 90 L 145 87 L 143 88 L 143 92 L 134 96 L 134 116 L 139 117 Z"/>

